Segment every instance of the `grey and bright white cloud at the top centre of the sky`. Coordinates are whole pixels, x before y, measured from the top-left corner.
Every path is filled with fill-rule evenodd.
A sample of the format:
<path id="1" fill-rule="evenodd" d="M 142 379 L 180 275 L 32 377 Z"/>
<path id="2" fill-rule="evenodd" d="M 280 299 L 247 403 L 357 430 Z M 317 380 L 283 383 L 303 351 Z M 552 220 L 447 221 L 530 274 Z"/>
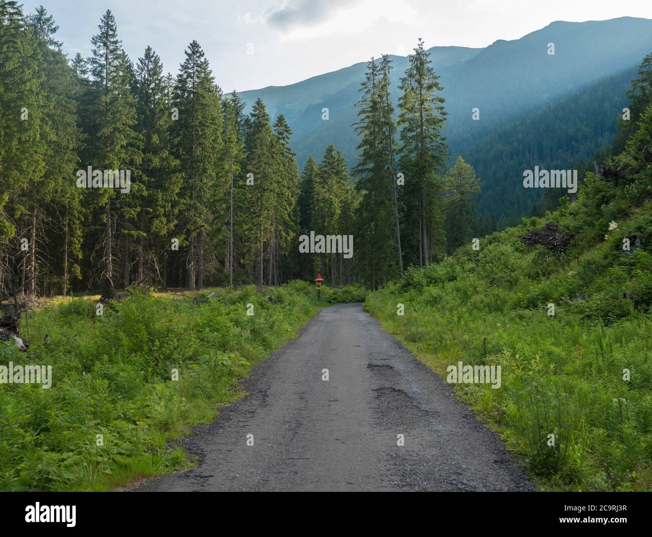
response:
<path id="1" fill-rule="evenodd" d="M 308 40 L 333 34 L 359 33 L 385 18 L 412 25 L 417 11 L 405 0 L 286 0 L 262 15 L 246 13 L 247 23 L 266 23 L 280 31 L 282 41 Z"/>

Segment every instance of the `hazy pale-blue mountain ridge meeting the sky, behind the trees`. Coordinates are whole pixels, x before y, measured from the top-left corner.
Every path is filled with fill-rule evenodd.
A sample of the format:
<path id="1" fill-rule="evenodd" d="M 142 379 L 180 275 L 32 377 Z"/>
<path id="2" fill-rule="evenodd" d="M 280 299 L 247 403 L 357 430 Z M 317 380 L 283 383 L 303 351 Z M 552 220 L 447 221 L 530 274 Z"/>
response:
<path id="1" fill-rule="evenodd" d="M 416 39 L 415 39 L 416 41 Z M 555 54 L 548 55 L 548 43 Z M 652 51 L 652 20 L 554 22 L 520 39 L 498 40 L 484 49 L 434 47 L 449 112 L 447 137 L 454 157 L 500 126 L 513 123 L 581 91 L 596 81 L 639 65 Z M 392 56 L 393 96 L 408 65 Z M 365 63 L 357 63 L 292 85 L 241 93 L 248 105 L 261 97 L 273 115 L 284 113 L 294 131 L 291 144 L 303 166 L 308 154 L 321 157 L 335 143 L 353 165 L 357 138 L 349 128 Z M 479 108 L 480 121 L 471 119 Z M 329 108 L 329 121 L 321 110 Z"/>

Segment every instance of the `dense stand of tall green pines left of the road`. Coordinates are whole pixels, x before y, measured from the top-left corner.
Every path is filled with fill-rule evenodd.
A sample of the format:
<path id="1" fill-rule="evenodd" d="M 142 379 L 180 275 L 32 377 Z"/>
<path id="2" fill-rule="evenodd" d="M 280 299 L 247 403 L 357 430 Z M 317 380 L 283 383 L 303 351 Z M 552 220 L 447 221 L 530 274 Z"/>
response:
<path id="1" fill-rule="evenodd" d="M 293 244 L 316 184 L 325 232 L 350 231 L 358 197 L 341 152 L 312 160 L 300 184 L 286 118 L 272 126 L 262 101 L 245 116 L 235 91 L 222 99 L 196 42 L 173 77 L 149 47 L 128 59 L 110 11 L 89 59 L 68 61 L 56 32 L 44 8 L 25 18 L 0 0 L 0 292 L 194 289 L 227 272 L 231 286 L 277 285 L 309 270 Z M 88 167 L 100 177 L 79 188 Z M 130 173 L 128 192 L 107 184 L 113 170 Z M 341 254 L 324 264 L 333 284 L 354 277 Z"/>

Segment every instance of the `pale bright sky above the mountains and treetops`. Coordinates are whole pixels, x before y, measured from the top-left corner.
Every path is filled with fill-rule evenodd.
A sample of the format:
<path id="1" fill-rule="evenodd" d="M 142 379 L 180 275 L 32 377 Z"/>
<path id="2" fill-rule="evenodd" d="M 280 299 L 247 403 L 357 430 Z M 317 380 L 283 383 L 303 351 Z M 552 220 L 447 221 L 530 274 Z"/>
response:
<path id="1" fill-rule="evenodd" d="M 135 62 L 148 45 L 175 74 L 197 40 L 225 92 L 288 85 L 382 53 L 432 46 L 485 47 L 557 20 L 652 18 L 650 0 L 21 0 L 43 5 L 63 51 L 90 55 L 111 9 Z"/>

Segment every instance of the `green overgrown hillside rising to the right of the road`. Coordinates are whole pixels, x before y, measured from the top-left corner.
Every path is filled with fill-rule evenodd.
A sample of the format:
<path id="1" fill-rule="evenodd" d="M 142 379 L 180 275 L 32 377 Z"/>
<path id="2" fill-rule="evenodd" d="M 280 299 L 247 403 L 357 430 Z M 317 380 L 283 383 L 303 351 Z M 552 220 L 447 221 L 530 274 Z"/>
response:
<path id="1" fill-rule="evenodd" d="M 574 203 L 409 269 L 366 302 L 443 379 L 460 361 L 501 366 L 501 389 L 454 389 L 544 487 L 652 484 L 651 146 L 652 106 L 608 163 L 617 179 L 587 173 Z M 559 247 L 527 239 L 550 223 Z"/>

